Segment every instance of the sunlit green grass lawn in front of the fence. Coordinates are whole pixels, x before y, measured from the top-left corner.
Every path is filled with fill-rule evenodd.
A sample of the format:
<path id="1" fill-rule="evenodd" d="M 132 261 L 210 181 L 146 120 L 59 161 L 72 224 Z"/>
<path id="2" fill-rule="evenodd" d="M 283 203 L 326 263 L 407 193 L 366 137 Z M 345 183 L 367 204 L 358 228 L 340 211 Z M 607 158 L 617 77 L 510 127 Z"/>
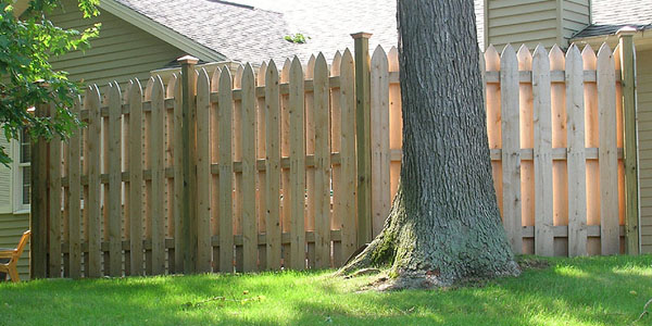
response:
<path id="1" fill-rule="evenodd" d="M 330 272 L 4 283 L 0 325 L 630 325 L 652 298 L 652 255 L 546 261 L 431 291 L 359 291 L 371 276 Z"/>

